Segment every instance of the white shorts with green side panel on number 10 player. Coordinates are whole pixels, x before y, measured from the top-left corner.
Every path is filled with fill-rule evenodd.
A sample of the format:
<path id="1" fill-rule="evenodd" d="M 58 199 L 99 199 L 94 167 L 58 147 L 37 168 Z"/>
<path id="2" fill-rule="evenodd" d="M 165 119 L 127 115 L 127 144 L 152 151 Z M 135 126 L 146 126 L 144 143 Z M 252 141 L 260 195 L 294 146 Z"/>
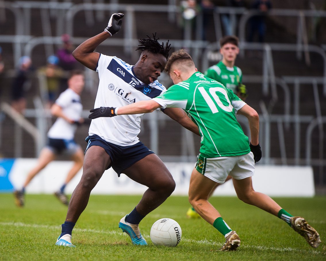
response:
<path id="1" fill-rule="evenodd" d="M 235 179 L 244 179 L 254 175 L 254 154 L 249 152 L 240 156 L 212 159 L 205 158 L 199 154 L 195 168 L 200 174 L 217 183 L 224 183 L 228 175 Z"/>

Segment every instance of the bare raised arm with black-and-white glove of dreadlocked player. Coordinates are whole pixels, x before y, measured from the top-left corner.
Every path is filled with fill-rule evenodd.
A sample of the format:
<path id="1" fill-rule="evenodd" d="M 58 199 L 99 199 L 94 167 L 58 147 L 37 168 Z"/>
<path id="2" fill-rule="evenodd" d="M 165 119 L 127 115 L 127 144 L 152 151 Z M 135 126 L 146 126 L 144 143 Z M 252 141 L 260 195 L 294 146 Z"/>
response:
<path id="1" fill-rule="evenodd" d="M 75 59 L 87 68 L 94 70 L 100 55 L 99 53 L 94 52 L 94 50 L 104 40 L 119 32 L 122 24 L 121 19 L 123 17 L 124 14 L 122 13 L 112 14 L 108 27 L 106 27 L 102 33 L 87 39 L 79 45 L 75 51 L 73 51 L 72 55 Z"/>

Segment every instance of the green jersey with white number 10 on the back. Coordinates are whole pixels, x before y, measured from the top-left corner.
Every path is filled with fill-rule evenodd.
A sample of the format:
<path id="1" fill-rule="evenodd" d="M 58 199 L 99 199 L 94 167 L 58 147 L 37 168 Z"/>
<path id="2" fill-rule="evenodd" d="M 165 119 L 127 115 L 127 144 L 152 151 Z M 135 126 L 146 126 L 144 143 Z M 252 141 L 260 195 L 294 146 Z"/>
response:
<path id="1" fill-rule="evenodd" d="M 249 139 L 235 116 L 246 103 L 217 81 L 196 72 L 153 100 L 163 108 L 177 107 L 187 112 L 199 127 L 202 156 L 216 158 L 250 152 Z"/>

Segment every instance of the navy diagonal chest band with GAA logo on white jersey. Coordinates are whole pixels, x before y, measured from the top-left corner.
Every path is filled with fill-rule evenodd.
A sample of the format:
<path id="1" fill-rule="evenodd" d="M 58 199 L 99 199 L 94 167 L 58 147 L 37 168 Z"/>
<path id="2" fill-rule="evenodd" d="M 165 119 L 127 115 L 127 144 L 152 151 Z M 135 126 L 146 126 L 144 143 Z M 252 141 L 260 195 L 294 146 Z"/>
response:
<path id="1" fill-rule="evenodd" d="M 144 95 L 155 98 L 159 96 L 162 93 L 162 90 L 159 90 L 155 87 L 151 87 L 148 84 L 141 84 L 140 81 L 137 79 L 136 76 L 132 75 L 130 72 L 128 72 L 125 68 L 123 68 L 116 60 L 112 59 L 110 64 L 108 65 L 107 69 L 114 73 L 116 76 L 124 80 L 127 84 L 130 84 L 132 87 L 134 87 L 137 91 L 142 92 Z M 133 71 L 133 67 L 131 68 L 131 71 Z"/>

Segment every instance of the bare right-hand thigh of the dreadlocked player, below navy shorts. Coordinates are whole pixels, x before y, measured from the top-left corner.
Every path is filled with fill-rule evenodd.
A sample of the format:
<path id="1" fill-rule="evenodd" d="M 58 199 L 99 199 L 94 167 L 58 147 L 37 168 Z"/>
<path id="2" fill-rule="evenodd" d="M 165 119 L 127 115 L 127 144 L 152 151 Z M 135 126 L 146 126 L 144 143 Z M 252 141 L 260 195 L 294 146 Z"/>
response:
<path id="1" fill-rule="evenodd" d="M 126 176 L 149 188 L 157 188 L 173 181 L 173 177 L 156 154 L 150 154 L 125 169 Z"/>

